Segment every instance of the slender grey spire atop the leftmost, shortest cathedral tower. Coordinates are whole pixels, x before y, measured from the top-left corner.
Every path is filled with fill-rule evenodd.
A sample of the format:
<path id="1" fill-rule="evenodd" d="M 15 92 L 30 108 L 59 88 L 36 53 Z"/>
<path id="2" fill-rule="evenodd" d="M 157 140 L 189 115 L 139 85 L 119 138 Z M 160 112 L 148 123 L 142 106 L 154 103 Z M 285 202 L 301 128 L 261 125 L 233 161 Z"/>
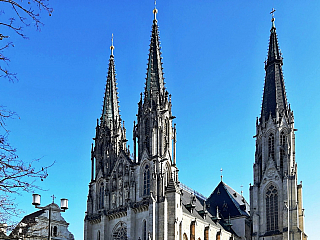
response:
<path id="1" fill-rule="evenodd" d="M 116 83 L 116 73 L 114 65 L 114 56 L 113 56 L 113 34 L 111 39 L 111 55 L 109 59 L 109 69 L 107 76 L 107 84 L 104 94 L 103 109 L 101 121 L 106 122 L 107 126 L 112 129 L 113 125 L 120 121 L 119 114 L 119 105 L 118 105 L 118 92 L 117 92 L 117 83 Z"/>

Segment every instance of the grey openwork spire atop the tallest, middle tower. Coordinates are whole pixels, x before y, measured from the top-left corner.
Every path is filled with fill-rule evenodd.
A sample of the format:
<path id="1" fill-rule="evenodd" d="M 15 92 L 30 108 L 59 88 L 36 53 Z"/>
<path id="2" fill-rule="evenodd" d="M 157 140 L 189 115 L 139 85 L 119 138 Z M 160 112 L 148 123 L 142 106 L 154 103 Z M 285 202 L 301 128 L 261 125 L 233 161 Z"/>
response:
<path id="1" fill-rule="evenodd" d="M 155 2 L 156 4 L 156 2 Z M 164 78 L 162 72 L 160 37 L 157 24 L 158 10 L 156 5 L 153 9 L 154 19 L 151 32 L 148 69 L 146 78 L 145 98 L 156 100 L 157 95 L 161 98 L 164 93 Z"/>

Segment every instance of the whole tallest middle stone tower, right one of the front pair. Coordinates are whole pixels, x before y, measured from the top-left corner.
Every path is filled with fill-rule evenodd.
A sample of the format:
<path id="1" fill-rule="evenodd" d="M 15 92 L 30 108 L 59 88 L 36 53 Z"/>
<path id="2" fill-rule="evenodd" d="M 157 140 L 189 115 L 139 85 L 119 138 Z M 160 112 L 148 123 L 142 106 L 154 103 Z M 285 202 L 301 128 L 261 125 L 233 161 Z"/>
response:
<path id="1" fill-rule="evenodd" d="M 149 58 L 144 94 L 140 94 L 137 122 L 133 127 L 134 162 L 139 164 L 143 185 L 140 196 L 150 199 L 152 239 L 175 239 L 175 206 L 180 204 L 176 166 L 176 128 L 171 112 L 171 95 L 165 88 L 158 10 L 153 10 Z M 170 216 L 169 216 L 170 213 Z"/>

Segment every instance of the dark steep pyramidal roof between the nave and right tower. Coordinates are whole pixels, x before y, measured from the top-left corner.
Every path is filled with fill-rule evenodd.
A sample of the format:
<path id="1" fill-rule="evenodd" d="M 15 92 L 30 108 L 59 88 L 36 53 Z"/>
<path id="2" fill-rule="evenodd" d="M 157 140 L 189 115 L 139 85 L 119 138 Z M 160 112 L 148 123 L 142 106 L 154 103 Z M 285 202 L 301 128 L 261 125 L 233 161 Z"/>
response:
<path id="1" fill-rule="evenodd" d="M 230 186 L 221 181 L 209 196 L 207 203 L 210 204 L 208 211 L 215 214 L 218 207 L 220 215 L 224 219 L 236 217 L 249 217 L 250 205 L 245 198 Z"/>

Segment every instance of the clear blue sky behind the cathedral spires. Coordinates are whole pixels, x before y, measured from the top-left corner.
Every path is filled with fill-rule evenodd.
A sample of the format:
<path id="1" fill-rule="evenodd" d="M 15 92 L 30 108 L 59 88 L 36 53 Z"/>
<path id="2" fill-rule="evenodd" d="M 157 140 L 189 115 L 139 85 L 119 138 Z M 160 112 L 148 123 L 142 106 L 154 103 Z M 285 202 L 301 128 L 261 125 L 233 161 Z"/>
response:
<path id="1" fill-rule="evenodd" d="M 0 81 L 0 103 L 16 111 L 11 144 L 20 158 L 56 163 L 39 185 L 42 203 L 68 198 L 63 213 L 83 238 L 90 148 L 101 106 L 114 34 L 120 110 L 132 145 L 132 125 L 144 89 L 152 0 L 50 1 L 41 32 L 12 34 L 7 51 L 17 83 Z M 298 180 L 303 181 L 306 233 L 317 239 L 320 199 L 320 1 L 158 0 L 166 87 L 177 117 L 180 181 L 208 196 L 220 181 L 249 201 L 255 121 L 261 110 L 264 60 L 272 8 L 284 56 L 288 101 L 294 110 Z M 31 194 L 17 197 L 34 211 Z"/>

